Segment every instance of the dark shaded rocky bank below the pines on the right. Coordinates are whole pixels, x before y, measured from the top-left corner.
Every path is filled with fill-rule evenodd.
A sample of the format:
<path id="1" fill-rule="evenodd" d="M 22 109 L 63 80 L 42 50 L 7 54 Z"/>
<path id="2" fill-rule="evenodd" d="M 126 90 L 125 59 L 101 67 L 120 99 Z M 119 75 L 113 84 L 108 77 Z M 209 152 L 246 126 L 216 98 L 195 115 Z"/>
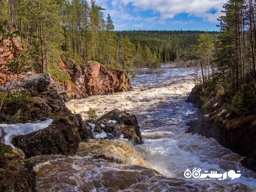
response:
<path id="1" fill-rule="evenodd" d="M 187 101 L 202 108 L 202 86 L 196 86 Z M 241 161 L 248 169 L 256 171 L 256 120 L 255 116 L 234 116 L 225 108 L 221 98 L 216 98 L 216 91 L 208 94 L 208 114 L 203 110 L 198 119 L 190 124 L 187 132 L 198 133 L 215 138 L 221 145 L 231 149 L 244 158 Z M 209 107 L 210 106 L 210 107 Z M 205 106 L 204 106 L 205 107 Z"/>

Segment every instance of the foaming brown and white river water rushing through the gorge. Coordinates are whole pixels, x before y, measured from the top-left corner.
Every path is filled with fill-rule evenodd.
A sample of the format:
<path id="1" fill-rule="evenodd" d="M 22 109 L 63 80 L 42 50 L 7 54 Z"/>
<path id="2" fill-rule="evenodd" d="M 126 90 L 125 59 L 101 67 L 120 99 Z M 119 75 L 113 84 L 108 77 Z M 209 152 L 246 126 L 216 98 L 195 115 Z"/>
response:
<path id="1" fill-rule="evenodd" d="M 132 92 L 72 100 L 67 107 L 84 119 L 90 107 L 101 116 L 112 109 L 137 116 L 145 144 L 125 140 L 90 140 L 75 156 L 40 156 L 37 191 L 256 191 L 256 173 L 244 168 L 238 154 L 216 140 L 184 133 L 197 109 L 185 102 L 194 84 L 193 68 L 168 68 L 141 74 Z M 184 172 L 240 171 L 234 180 L 192 180 Z"/>

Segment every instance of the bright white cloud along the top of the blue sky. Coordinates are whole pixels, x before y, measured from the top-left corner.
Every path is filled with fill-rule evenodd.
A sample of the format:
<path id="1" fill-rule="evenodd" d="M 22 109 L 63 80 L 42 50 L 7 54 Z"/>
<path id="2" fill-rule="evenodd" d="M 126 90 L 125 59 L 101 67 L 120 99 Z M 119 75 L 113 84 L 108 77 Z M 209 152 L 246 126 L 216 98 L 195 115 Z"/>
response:
<path id="1" fill-rule="evenodd" d="M 127 5 L 132 5 L 135 12 L 152 10 L 159 13 L 161 19 L 172 19 L 180 13 L 187 13 L 203 18 L 210 22 L 216 22 L 221 15 L 223 4 L 226 0 L 112 0 L 115 10 L 124 10 Z M 212 13 L 215 10 L 217 13 Z M 127 10 L 128 11 L 128 10 Z M 121 17 L 122 17 L 121 13 Z"/>

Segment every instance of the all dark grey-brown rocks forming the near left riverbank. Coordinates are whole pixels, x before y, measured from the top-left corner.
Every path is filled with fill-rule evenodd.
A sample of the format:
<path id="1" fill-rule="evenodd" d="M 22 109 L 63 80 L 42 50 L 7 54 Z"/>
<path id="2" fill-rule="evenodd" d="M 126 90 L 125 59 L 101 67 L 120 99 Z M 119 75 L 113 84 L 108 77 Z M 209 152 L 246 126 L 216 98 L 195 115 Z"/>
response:
<path id="1" fill-rule="evenodd" d="M 100 70 L 100 64 L 96 65 L 96 68 Z M 86 122 L 79 114 L 72 114 L 64 103 L 65 98 L 67 99 L 65 87 L 54 82 L 49 73 L 26 76 L 22 81 L 12 82 L 11 86 L 9 85 L 10 82 L 2 84 L 0 90 L 4 92 L 9 88 L 10 92 L 14 93 L 26 92 L 29 99 L 24 108 L 8 114 L 12 124 L 44 121 L 47 118 L 53 119 L 53 122 L 45 129 L 12 140 L 12 144 L 19 148 L 22 155 L 4 157 L 5 163 L 0 165 L 0 191 L 35 191 L 36 172 L 33 170 L 33 165 L 30 165 L 25 158 L 50 154 L 73 155 L 80 142 L 94 139 L 94 135 L 100 133 L 107 135 L 105 139 L 122 138 L 134 144 L 142 143 L 136 117 L 126 112 L 116 109 L 98 120 L 90 119 Z M 118 84 L 115 86 L 118 87 Z M 113 91 L 122 91 L 119 88 Z M 89 90 L 92 92 L 99 89 L 94 86 L 94 89 Z M 1 121 L 10 124 L 8 119 L 2 118 Z M 4 132 L 4 124 L 1 127 L 1 132 Z M 14 154 L 14 151 L 12 153 Z"/>

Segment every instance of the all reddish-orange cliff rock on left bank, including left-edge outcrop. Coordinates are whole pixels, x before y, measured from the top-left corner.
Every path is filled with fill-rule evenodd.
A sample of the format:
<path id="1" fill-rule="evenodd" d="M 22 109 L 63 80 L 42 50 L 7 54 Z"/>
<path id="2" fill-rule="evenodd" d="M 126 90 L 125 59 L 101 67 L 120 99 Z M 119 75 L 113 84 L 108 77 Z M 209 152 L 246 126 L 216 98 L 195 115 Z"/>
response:
<path id="1" fill-rule="evenodd" d="M 11 61 L 19 52 L 24 49 L 18 37 L 4 40 L 0 46 L 0 67 Z M 60 67 L 69 73 L 72 82 L 58 82 L 56 86 L 63 90 L 64 101 L 71 99 L 82 99 L 92 95 L 107 95 L 114 92 L 131 91 L 131 79 L 125 76 L 122 70 L 108 70 L 98 62 L 90 61 L 78 65 L 72 60 L 66 60 L 62 57 Z M 19 75 L 19 78 L 35 74 L 29 73 Z M 18 76 L 15 76 L 17 78 Z M 0 83 L 11 81 L 8 75 L 0 73 Z"/>

